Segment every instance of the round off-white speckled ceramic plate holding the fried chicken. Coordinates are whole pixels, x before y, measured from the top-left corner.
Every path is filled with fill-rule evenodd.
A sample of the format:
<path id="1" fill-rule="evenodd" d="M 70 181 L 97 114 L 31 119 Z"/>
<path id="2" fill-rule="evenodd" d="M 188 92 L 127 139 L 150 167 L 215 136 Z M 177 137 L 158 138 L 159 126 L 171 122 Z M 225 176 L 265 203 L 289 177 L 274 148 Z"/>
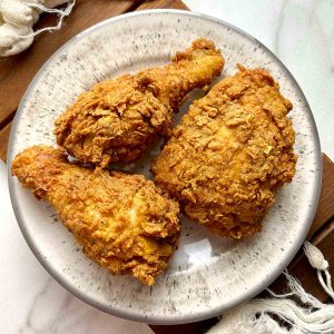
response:
<path id="1" fill-rule="evenodd" d="M 316 127 L 301 88 L 269 50 L 228 23 L 187 11 L 141 11 L 94 26 L 58 50 L 31 82 L 12 127 L 9 165 L 26 147 L 55 145 L 53 120 L 82 90 L 166 63 L 170 55 L 200 37 L 222 49 L 226 59 L 222 77 L 233 75 L 236 62 L 264 67 L 294 104 L 289 117 L 296 129 L 297 173 L 277 194 L 262 233 L 229 240 L 181 218 L 179 249 L 168 269 L 154 287 L 143 286 L 131 277 L 112 276 L 78 252 L 79 245 L 57 222 L 55 210 L 9 176 L 18 222 L 42 265 L 79 298 L 125 318 L 176 324 L 220 314 L 255 296 L 291 262 L 313 219 L 322 169 Z M 186 110 L 184 106 L 180 115 Z M 158 146 L 150 153 L 155 154 Z M 147 177 L 150 155 L 134 167 Z"/>

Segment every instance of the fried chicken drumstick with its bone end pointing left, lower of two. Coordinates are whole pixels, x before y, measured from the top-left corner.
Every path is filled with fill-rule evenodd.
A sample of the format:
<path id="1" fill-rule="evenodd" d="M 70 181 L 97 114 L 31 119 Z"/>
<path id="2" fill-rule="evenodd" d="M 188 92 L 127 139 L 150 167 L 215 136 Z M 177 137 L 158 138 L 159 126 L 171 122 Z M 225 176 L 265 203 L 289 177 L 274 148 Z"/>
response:
<path id="1" fill-rule="evenodd" d="M 59 149 L 17 155 L 12 175 L 51 203 L 84 252 L 112 274 L 153 285 L 177 247 L 179 207 L 143 176 L 70 164 Z"/>

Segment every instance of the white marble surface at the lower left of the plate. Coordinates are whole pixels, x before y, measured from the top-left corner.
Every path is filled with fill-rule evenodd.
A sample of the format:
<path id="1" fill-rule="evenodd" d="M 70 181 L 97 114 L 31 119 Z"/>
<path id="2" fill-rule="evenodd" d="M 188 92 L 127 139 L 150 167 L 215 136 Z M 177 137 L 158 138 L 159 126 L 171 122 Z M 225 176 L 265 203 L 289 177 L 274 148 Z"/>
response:
<path id="1" fill-rule="evenodd" d="M 39 264 L 16 222 L 0 160 L 0 333 L 150 334 L 145 324 L 108 315 L 62 288 Z"/>

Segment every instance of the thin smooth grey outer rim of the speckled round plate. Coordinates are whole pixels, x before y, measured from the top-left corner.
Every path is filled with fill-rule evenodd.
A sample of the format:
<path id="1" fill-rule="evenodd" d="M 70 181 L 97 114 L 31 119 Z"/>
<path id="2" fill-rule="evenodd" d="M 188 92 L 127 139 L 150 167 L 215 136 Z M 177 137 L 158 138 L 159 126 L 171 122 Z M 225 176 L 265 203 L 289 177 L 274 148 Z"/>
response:
<path id="1" fill-rule="evenodd" d="M 85 293 L 82 293 L 78 287 L 72 286 L 70 284 L 67 284 L 61 275 L 59 275 L 59 273 L 57 273 L 56 271 L 53 271 L 50 265 L 49 265 L 49 261 L 47 261 L 42 254 L 39 253 L 37 245 L 33 240 L 33 238 L 31 237 L 31 235 L 29 235 L 29 232 L 27 229 L 26 223 L 24 223 L 24 216 L 22 210 L 19 207 L 18 200 L 17 200 L 17 193 L 16 193 L 16 184 L 14 184 L 14 178 L 11 176 L 11 171 L 10 171 L 10 166 L 11 166 L 11 161 L 14 158 L 13 156 L 13 134 L 16 132 L 18 122 L 19 122 L 19 118 L 20 118 L 20 114 L 22 110 L 22 106 L 26 104 L 26 101 L 29 99 L 29 95 L 30 91 L 32 90 L 32 88 L 35 87 L 35 84 L 38 81 L 40 75 L 42 73 L 42 71 L 48 67 L 48 65 L 53 60 L 53 58 L 56 58 L 58 56 L 58 53 L 60 53 L 61 51 L 63 51 L 66 48 L 70 47 L 70 45 L 73 42 L 73 40 L 76 39 L 81 39 L 86 36 L 89 36 L 90 32 L 100 29 L 101 27 L 109 24 L 110 22 L 115 22 L 115 21 L 121 21 L 124 19 L 127 18 L 131 18 L 131 17 L 137 17 L 137 16 L 145 16 L 145 14 L 155 14 L 155 13 L 177 13 L 177 14 L 181 14 L 181 16 L 186 16 L 186 17 L 199 17 L 203 18 L 205 20 L 210 20 L 213 22 L 219 23 L 225 26 L 226 28 L 229 28 L 230 30 L 234 30 L 240 35 L 243 35 L 244 37 L 253 40 L 254 42 L 258 43 L 266 52 L 268 52 L 274 59 L 275 61 L 282 67 L 282 69 L 285 71 L 285 73 L 287 75 L 287 77 L 293 81 L 293 84 L 295 85 L 296 90 L 298 91 L 298 94 L 301 95 L 301 97 L 303 98 L 305 105 L 307 106 L 307 109 L 310 110 L 310 121 L 311 121 L 311 126 L 312 126 L 312 131 L 314 134 L 313 136 L 313 140 L 314 140 L 314 145 L 315 145 L 315 154 L 317 155 L 317 161 L 316 161 L 316 168 L 315 168 L 315 173 L 314 173 L 314 187 L 313 187 L 313 205 L 308 208 L 308 215 L 307 215 L 307 222 L 304 222 L 304 230 L 303 233 L 301 233 L 301 235 L 298 236 L 298 238 L 295 240 L 294 245 L 292 246 L 292 248 L 289 249 L 289 253 L 286 253 L 286 256 L 284 258 L 284 261 L 281 263 L 281 265 L 278 265 L 276 267 L 276 271 L 274 271 L 272 273 L 272 275 L 267 276 L 266 279 L 262 281 L 261 284 L 254 285 L 253 288 L 249 288 L 243 296 L 240 296 L 239 298 L 234 299 L 230 303 L 227 303 L 225 305 L 223 305 L 223 307 L 220 306 L 216 306 L 214 308 L 209 308 L 205 312 L 198 312 L 193 314 L 191 316 L 179 316 L 177 318 L 171 318 L 171 317 L 166 317 L 166 316 L 151 316 L 151 317 L 147 317 L 147 315 L 143 314 L 143 313 L 138 313 L 138 314 L 134 314 L 134 312 L 131 312 L 131 310 L 129 310 L 128 312 L 124 312 L 124 311 L 119 311 L 119 310 L 115 310 L 115 308 L 110 308 L 110 306 L 105 306 L 101 305 L 100 303 L 97 303 L 96 301 L 94 301 L 92 298 L 90 298 L 89 296 L 87 296 Z M 11 198 L 11 203 L 12 203 L 12 207 L 13 207 L 13 212 L 16 215 L 16 218 L 18 220 L 18 225 L 21 229 L 21 233 L 28 244 L 28 246 L 30 247 L 30 249 L 32 250 L 32 253 L 35 254 L 35 256 L 37 257 L 37 259 L 41 263 L 41 265 L 46 268 L 46 271 L 62 286 L 65 287 L 68 292 L 70 292 L 71 294 L 73 294 L 75 296 L 77 296 L 78 298 L 80 298 L 81 301 L 86 302 L 87 304 L 104 311 L 106 313 L 126 318 L 126 320 L 130 320 L 130 321 L 137 321 L 137 322 L 143 322 L 143 323 L 149 323 L 149 324 L 164 324 L 164 325 L 173 325 L 173 324 L 184 324 L 184 323 L 191 323 L 191 322 L 198 322 L 202 320 L 206 320 L 209 317 L 214 317 L 217 316 L 222 313 L 224 313 L 225 311 L 230 310 L 232 307 L 235 307 L 242 303 L 245 303 L 249 299 L 252 299 L 254 296 L 256 296 L 258 293 L 261 293 L 263 289 L 265 289 L 272 282 L 274 282 L 278 275 L 286 268 L 286 266 L 291 263 L 291 261 L 294 258 L 294 256 L 296 255 L 296 253 L 298 252 L 301 245 L 303 244 L 303 242 L 306 238 L 307 232 L 311 227 L 311 224 L 313 222 L 313 218 L 315 216 L 316 213 L 316 208 L 317 208 L 317 204 L 318 204 L 318 198 L 320 198 L 320 194 L 321 194 L 321 185 L 322 185 L 322 170 L 323 170 L 323 166 L 322 166 L 322 155 L 321 155 L 321 145 L 320 145 L 320 138 L 318 138 L 318 132 L 317 132 L 317 128 L 316 128 L 316 124 L 313 117 L 313 114 L 311 111 L 311 107 L 307 102 L 306 97 L 304 96 L 299 85 L 297 84 L 297 81 L 295 80 L 295 78 L 293 77 L 293 75 L 289 72 L 289 70 L 285 67 L 285 65 L 266 47 L 264 46 L 261 41 L 258 41 L 256 38 L 254 38 L 253 36 L 250 36 L 249 33 L 245 32 L 244 30 L 224 21 L 217 18 L 213 18 L 210 16 L 206 16 L 206 14 L 202 14 L 202 13 L 197 13 L 197 12 L 193 12 L 193 11 L 186 11 L 186 10 L 176 10 L 176 9 L 150 9 L 150 10 L 143 10 L 143 11 L 135 11 L 135 12 L 130 12 L 130 13 L 125 13 L 125 14 L 120 14 L 107 20 L 104 20 L 86 30 L 84 30 L 82 32 L 76 35 L 75 37 L 72 37 L 70 40 L 68 40 L 63 46 L 61 46 L 46 62 L 45 65 L 39 69 L 39 71 L 37 72 L 37 75 L 35 76 L 35 78 L 32 79 L 32 81 L 30 82 L 29 87 L 27 88 L 20 105 L 18 107 L 12 127 L 11 127 L 11 131 L 10 131 L 10 138 L 9 138 L 9 145 L 8 145 L 8 185 L 9 185 L 9 193 L 10 193 L 10 198 Z"/>

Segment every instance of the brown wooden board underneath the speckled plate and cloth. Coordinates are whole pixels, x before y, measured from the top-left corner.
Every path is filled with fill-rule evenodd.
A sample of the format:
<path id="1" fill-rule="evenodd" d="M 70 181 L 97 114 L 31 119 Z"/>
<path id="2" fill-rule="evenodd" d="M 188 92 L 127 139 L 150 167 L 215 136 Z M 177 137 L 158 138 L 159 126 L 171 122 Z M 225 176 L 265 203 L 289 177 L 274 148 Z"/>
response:
<path id="1" fill-rule="evenodd" d="M 0 158 L 6 161 L 8 137 L 12 119 L 19 102 L 46 60 L 71 37 L 87 29 L 88 27 L 115 17 L 117 14 L 153 8 L 174 8 L 187 10 L 187 7 L 179 0 L 155 0 L 155 1 L 131 1 L 131 0 L 77 0 L 72 13 L 66 18 L 61 30 L 50 35 L 48 32 L 38 36 L 33 45 L 20 55 L 9 58 L 0 58 Z M 56 23 L 57 18 L 51 14 L 42 14 L 36 28 Z M 332 265 L 331 274 L 334 277 L 334 164 L 323 155 L 323 186 L 316 216 L 312 224 L 307 239 L 316 245 Z M 310 266 L 302 249 L 288 266 L 289 272 L 297 277 L 303 286 L 326 302 L 327 296 L 322 291 L 316 272 Z M 279 276 L 271 285 L 276 292 L 285 288 L 285 279 Z M 264 293 L 262 295 L 265 295 Z M 151 326 L 159 334 L 163 333 L 204 333 L 216 318 L 199 323 L 176 325 L 176 326 Z"/>

